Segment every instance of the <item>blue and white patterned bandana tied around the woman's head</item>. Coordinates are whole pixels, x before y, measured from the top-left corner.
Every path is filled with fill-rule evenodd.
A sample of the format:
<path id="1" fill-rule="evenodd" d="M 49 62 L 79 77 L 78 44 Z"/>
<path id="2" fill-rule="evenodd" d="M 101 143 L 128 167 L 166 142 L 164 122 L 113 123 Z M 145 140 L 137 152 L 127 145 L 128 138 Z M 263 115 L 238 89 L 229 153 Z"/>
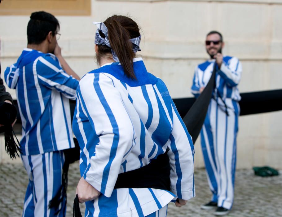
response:
<path id="1" fill-rule="evenodd" d="M 93 24 L 95 24 L 98 27 L 96 34 L 95 34 L 95 44 L 106 45 L 106 46 L 108 46 L 109 48 L 112 49 L 110 41 L 108 39 L 108 28 L 107 28 L 107 26 L 104 23 L 101 23 L 101 22 L 93 22 Z M 103 38 L 100 35 L 99 30 L 102 33 L 104 33 L 105 38 Z M 137 51 L 141 51 L 141 49 L 139 47 L 139 44 L 140 44 L 140 41 L 141 41 L 141 35 L 137 38 L 130 38 L 129 41 L 133 44 L 132 51 L 134 53 L 136 53 Z M 117 54 L 113 49 L 112 49 L 112 58 L 115 62 L 119 62 Z"/>

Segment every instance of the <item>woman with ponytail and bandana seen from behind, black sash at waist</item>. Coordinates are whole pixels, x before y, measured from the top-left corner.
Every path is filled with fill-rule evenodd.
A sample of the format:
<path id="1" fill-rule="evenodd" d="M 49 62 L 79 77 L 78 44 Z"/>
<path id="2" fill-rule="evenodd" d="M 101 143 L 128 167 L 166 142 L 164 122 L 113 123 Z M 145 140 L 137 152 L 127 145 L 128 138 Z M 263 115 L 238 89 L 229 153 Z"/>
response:
<path id="1" fill-rule="evenodd" d="M 147 72 L 138 25 L 114 15 L 98 27 L 100 68 L 79 82 L 73 132 L 85 216 L 166 216 L 195 196 L 194 146 L 169 92 Z"/>

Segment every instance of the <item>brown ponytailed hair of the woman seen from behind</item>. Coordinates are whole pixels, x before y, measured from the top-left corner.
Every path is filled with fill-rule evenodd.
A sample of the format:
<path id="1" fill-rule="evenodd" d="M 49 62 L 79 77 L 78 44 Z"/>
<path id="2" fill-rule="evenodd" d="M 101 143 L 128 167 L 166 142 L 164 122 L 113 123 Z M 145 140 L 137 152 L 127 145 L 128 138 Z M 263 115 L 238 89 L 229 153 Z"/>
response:
<path id="1" fill-rule="evenodd" d="M 108 39 L 112 49 L 116 52 L 117 57 L 123 67 L 127 77 L 136 79 L 133 70 L 133 58 L 135 53 L 132 51 L 132 43 L 130 38 L 140 36 L 139 27 L 131 18 L 121 15 L 113 15 L 104 21 L 108 28 Z M 99 31 L 100 35 L 104 34 Z M 106 45 L 98 45 L 99 54 L 97 60 L 108 53 L 111 53 L 111 48 Z"/>

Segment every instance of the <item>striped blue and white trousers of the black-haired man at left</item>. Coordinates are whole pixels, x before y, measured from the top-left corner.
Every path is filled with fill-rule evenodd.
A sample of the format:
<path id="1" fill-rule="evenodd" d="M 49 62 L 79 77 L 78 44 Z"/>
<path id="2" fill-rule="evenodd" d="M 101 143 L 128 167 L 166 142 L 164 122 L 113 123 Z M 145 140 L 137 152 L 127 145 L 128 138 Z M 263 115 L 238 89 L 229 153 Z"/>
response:
<path id="1" fill-rule="evenodd" d="M 65 216 L 66 198 L 59 205 L 59 209 L 62 209 L 58 215 L 55 215 L 55 208 L 48 208 L 49 201 L 56 195 L 62 183 L 63 151 L 21 157 L 29 177 L 23 217 Z"/>

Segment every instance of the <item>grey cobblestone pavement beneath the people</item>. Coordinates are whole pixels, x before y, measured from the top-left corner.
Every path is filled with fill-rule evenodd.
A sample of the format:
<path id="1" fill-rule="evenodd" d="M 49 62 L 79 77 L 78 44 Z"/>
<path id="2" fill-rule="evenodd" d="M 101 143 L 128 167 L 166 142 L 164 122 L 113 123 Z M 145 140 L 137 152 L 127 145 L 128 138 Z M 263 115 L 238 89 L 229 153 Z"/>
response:
<path id="1" fill-rule="evenodd" d="M 280 171 L 280 174 L 282 171 Z M 70 166 L 68 185 L 67 217 L 72 215 L 75 188 L 79 180 L 78 163 Z M 196 197 L 181 208 L 169 204 L 168 217 L 207 217 L 214 216 L 212 211 L 200 209 L 200 205 L 209 201 L 205 170 L 195 171 Z M 0 164 L 0 217 L 21 216 L 27 175 L 21 164 Z M 81 206 L 82 213 L 84 211 Z M 282 216 L 282 175 L 262 178 L 253 175 L 253 171 L 237 170 L 235 184 L 235 202 L 228 217 L 237 216 Z"/>

